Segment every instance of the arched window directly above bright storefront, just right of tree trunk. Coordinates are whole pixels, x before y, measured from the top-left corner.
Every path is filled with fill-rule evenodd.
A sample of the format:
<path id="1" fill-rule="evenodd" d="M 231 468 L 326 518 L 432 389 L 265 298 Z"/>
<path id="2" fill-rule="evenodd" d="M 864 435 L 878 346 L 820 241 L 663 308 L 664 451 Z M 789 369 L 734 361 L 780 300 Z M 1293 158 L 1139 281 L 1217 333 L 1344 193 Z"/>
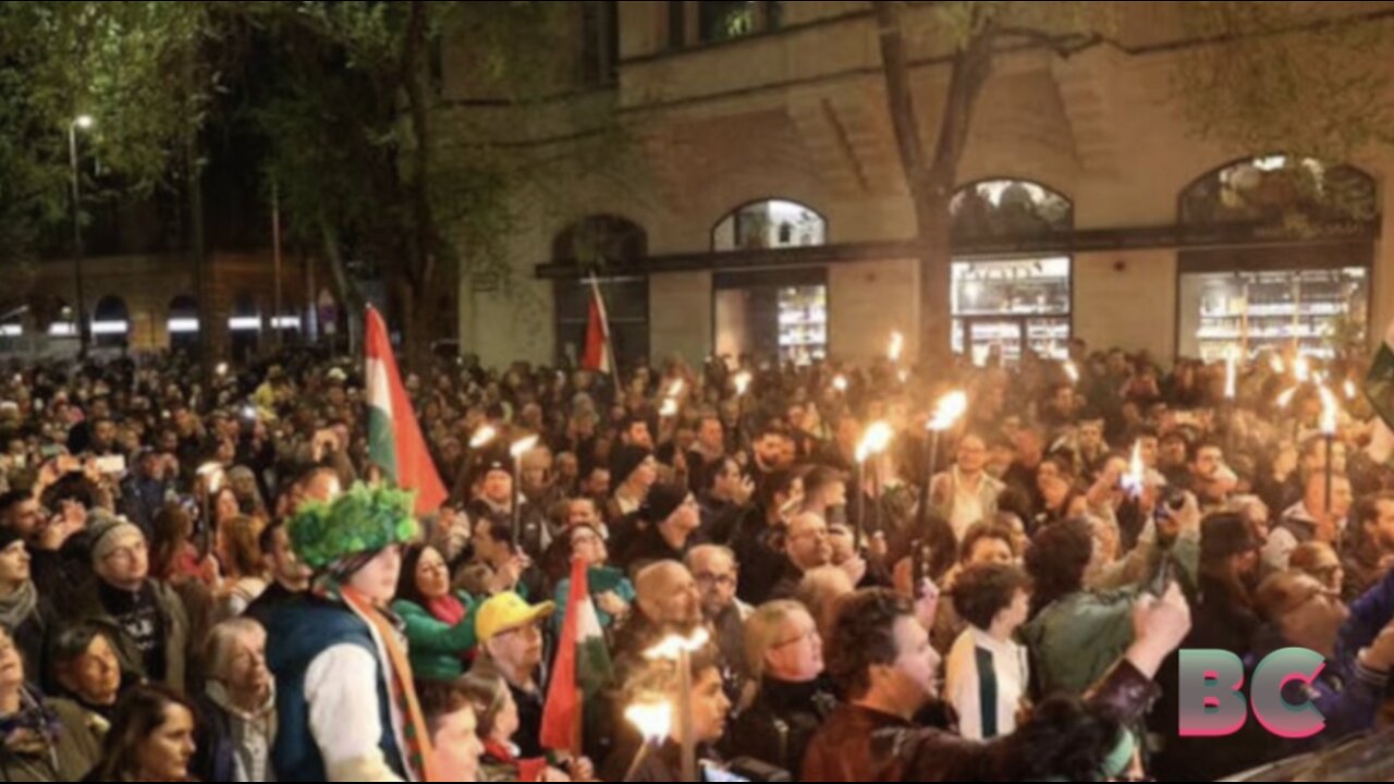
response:
<path id="1" fill-rule="evenodd" d="M 1075 205 L 1064 194 L 1029 180 L 981 180 L 959 188 L 949 205 L 953 239 L 1029 240 L 1069 233 Z"/>

